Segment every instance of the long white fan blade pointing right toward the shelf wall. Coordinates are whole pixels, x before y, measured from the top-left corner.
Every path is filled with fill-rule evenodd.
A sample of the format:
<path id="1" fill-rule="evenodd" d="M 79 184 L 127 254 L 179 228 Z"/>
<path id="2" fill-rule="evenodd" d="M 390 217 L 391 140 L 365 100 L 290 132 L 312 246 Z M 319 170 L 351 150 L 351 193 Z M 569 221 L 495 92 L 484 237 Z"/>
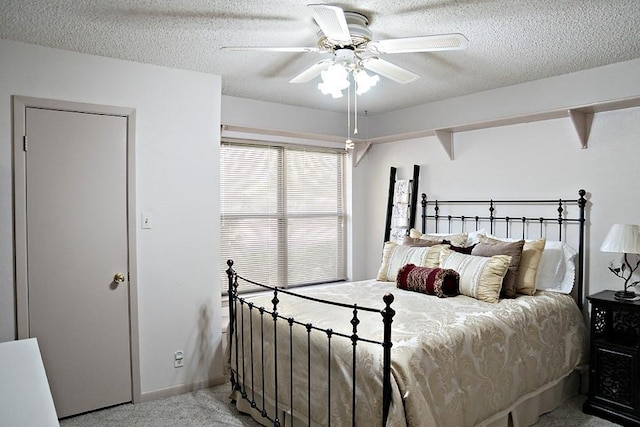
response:
<path id="1" fill-rule="evenodd" d="M 469 40 L 459 33 L 433 36 L 407 37 L 402 39 L 374 40 L 367 50 L 376 53 L 436 52 L 466 49 Z"/>

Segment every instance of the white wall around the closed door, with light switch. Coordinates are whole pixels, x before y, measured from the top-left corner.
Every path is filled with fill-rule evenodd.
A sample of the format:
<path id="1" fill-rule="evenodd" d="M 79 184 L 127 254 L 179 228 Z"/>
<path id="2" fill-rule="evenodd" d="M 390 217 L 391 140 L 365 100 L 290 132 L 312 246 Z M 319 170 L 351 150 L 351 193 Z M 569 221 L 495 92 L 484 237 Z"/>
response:
<path id="1" fill-rule="evenodd" d="M 15 339 L 11 96 L 133 107 L 142 394 L 221 379 L 220 77 L 3 40 L 0 58 L 0 341 Z"/>

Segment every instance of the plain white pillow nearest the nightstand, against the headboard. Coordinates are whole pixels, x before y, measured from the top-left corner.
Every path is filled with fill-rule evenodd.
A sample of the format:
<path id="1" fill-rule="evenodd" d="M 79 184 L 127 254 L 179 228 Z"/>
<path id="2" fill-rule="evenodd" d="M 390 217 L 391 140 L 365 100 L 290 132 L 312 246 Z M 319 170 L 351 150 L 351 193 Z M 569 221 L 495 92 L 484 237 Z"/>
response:
<path id="1" fill-rule="evenodd" d="M 536 275 L 536 289 L 571 293 L 578 252 L 564 242 L 547 241 Z"/>

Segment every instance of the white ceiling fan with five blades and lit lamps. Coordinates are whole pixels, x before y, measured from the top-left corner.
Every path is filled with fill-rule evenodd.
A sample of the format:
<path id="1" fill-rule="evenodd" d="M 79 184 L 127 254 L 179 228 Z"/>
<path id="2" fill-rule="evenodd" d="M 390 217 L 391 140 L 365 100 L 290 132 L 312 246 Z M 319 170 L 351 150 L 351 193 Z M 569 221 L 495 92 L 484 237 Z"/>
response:
<path id="1" fill-rule="evenodd" d="M 403 84 L 410 83 L 419 78 L 416 73 L 381 59 L 381 55 L 460 50 L 465 49 L 468 44 L 467 38 L 459 33 L 375 40 L 371 30 L 367 28 L 369 19 L 359 12 L 344 11 L 338 6 L 327 4 L 309 4 L 308 7 L 311 8 L 313 18 L 316 24 L 318 24 L 318 27 L 320 27 L 318 31 L 318 41 L 315 47 L 237 46 L 223 47 L 222 49 L 265 52 L 332 53 L 333 58 L 316 62 L 291 79 L 290 83 L 309 82 L 320 74 L 322 74 L 323 82 L 326 82 L 326 80 L 333 82 L 335 79 L 332 79 L 330 75 L 332 71 L 330 68 L 333 68 L 333 71 L 337 68 L 342 68 L 347 74 L 349 72 L 353 73 L 357 85 L 368 89 L 377 82 L 378 77 L 368 76 L 366 73 L 361 72 L 363 70 L 371 71 L 377 75 Z M 332 67 L 336 64 L 341 67 Z M 343 79 L 342 81 L 346 80 Z M 336 92 L 337 88 L 335 87 L 333 87 L 333 92 L 331 92 L 332 88 L 328 87 L 329 82 L 326 83 L 326 92 L 322 86 L 319 86 L 323 93 L 332 93 L 334 97 L 341 96 L 341 92 Z M 348 82 L 346 84 L 348 85 Z M 322 85 L 322 83 L 320 85 Z M 331 83 L 331 85 L 335 86 L 333 83 Z M 366 89 L 362 92 L 365 92 Z"/>

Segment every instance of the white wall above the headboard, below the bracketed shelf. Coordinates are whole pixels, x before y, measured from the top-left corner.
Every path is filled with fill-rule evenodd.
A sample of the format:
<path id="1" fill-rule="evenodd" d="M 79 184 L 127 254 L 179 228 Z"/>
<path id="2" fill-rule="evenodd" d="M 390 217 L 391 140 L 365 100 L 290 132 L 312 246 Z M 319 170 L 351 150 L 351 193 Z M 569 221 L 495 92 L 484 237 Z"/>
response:
<path id="1" fill-rule="evenodd" d="M 369 177 L 361 194 L 366 276 L 379 267 L 389 168 L 409 178 L 421 166 L 420 192 L 430 198 L 577 198 L 589 193 L 587 294 L 619 289 L 607 266 L 616 254 L 600 244 L 613 223 L 640 223 L 640 107 L 597 113 L 582 149 L 569 118 L 456 133 L 455 160 L 435 137 L 373 146 L 358 168 Z"/>

